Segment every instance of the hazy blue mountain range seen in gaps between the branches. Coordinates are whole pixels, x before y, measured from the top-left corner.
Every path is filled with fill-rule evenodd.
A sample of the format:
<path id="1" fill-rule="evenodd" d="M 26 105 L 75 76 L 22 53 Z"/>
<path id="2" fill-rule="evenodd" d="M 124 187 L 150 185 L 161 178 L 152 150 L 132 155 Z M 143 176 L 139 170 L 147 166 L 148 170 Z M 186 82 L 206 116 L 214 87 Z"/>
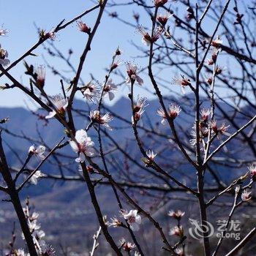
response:
<path id="1" fill-rule="evenodd" d="M 184 106 L 177 124 L 188 132 L 191 130 L 193 124 L 191 113 L 194 111 L 192 103 L 189 103 L 189 97 L 190 96 L 188 95 L 187 99 L 176 99 L 177 102 L 180 102 L 181 105 Z M 172 101 L 173 100 L 175 99 L 172 99 Z M 168 131 L 168 133 L 170 133 L 169 130 L 167 130 L 167 127 L 163 127 L 159 124 L 161 118 L 157 116 L 156 113 L 157 108 L 159 108 L 158 100 L 154 99 L 149 103 L 150 104 L 146 107 L 146 112 L 139 125 L 146 125 L 148 129 L 151 129 L 151 127 L 158 127 L 157 129 L 159 129 L 159 131 Z M 225 108 L 227 112 L 229 110 L 231 112 L 229 106 L 222 104 L 222 107 Z M 88 112 L 89 110 L 94 110 L 96 106 L 88 105 L 82 100 L 75 100 L 74 108 Z M 107 106 L 102 112 L 104 113 L 108 109 L 112 110 L 113 113 L 124 118 L 126 121 L 131 120 L 132 112 L 129 99 L 127 98 L 122 97 L 115 105 L 111 107 Z M 250 108 L 245 107 L 245 110 L 246 113 L 251 113 Z M 45 114 L 42 110 L 39 110 L 39 113 Z M 221 113 L 217 111 L 217 116 L 220 114 Z M 76 113 L 74 116 L 76 129 L 83 129 L 89 123 L 87 116 L 80 117 Z M 59 142 L 60 138 L 65 135 L 63 127 L 61 127 L 61 125 L 54 119 L 50 120 L 50 123 L 47 126 L 44 126 L 42 121 L 37 120 L 37 116 L 32 115 L 29 110 L 24 108 L 1 108 L 0 119 L 5 117 L 9 117 L 10 121 L 8 121 L 7 124 L 4 124 L 4 128 L 7 128 L 10 132 L 14 132 L 17 135 L 23 134 L 28 139 L 40 140 L 40 138 L 43 138 L 44 144 L 49 148 L 55 146 L 56 143 Z M 241 116 L 238 117 L 241 118 Z M 135 141 L 132 140 L 132 127 L 130 127 L 126 121 L 121 122 L 118 118 L 114 118 L 110 125 L 113 128 L 118 127 L 118 129 L 113 129 L 113 131 L 110 132 L 110 135 L 114 140 L 116 140 L 118 145 L 127 146 L 128 154 L 140 159 L 141 155 L 139 153 L 138 146 Z M 243 123 L 243 120 L 241 120 L 241 123 Z M 164 141 L 166 144 L 165 138 L 158 138 L 157 142 L 154 142 L 152 145 L 150 135 L 146 132 L 140 133 L 143 138 L 143 142 L 148 146 L 154 146 L 156 150 L 162 149 Z M 95 140 L 95 143 L 97 143 L 95 132 L 89 132 L 89 134 Z M 184 138 L 182 133 L 180 135 Z M 31 142 L 25 139 L 15 138 L 12 135 L 8 135 L 6 132 L 3 133 L 3 139 L 8 162 L 12 167 L 20 167 L 21 164 L 18 157 L 23 161 L 26 159 L 26 154 L 29 146 L 31 146 Z M 39 145 L 43 143 L 38 142 L 35 144 Z M 229 146 L 232 147 L 233 144 L 231 143 Z M 168 159 L 168 161 L 175 165 L 175 159 L 178 159 L 179 153 L 178 151 L 173 151 L 172 147 L 173 146 L 170 144 L 170 151 L 163 151 L 162 157 Z M 15 150 L 16 155 L 13 154 L 12 150 Z M 69 146 L 61 149 L 60 152 L 61 154 L 72 156 L 75 159 L 75 154 L 71 151 Z M 246 151 L 241 154 L 246 156 Z M 120 153 L 114 153 L 114 156 L 116 159 L 121 157 Z M 65 157 L 60 159 L 63 159 L 63 162 L 69 162 L 69 169 L 71 173 L 78 173 L 78 164 L 75 163 L 75 161 L 70 159 L 67 160 Z M 36 166 L 38 162 L 39 160 L 34 159 L 29 166 Z M 132 168 L 134 170 L 139 170 L 137 166 L 132 166 Z M 190 170 L 190 167 L 186 164 L 182 166 L 182 169 L 188 174 L 194 172 L 194 170 Z M 46 162 L 42 166 L 41 170 L 45 173 L 59 173 L 59 170 L 56 170 L 56 167 L 53 165 L 53 158 L 50 158 L 50 161 Z M 218 166 L 214 170 L 217 175 L 222 176 L 224 180 L 230 180 L 230 178 L 235 175 L 235 173 L 228 171 L 225 166 Z M 110 171 L 111 173 L 116 173 L 116 170 L 110 169 Z M 67 174 L 67 170 L 64 170 L 64 173 Z M 236 176 L 237 174 L 238 172 L 236 172 Z M 186 180 L 186 182 L 191 182 L 189 175 L 186 178 L 184 174 L 177 172 L 173 173 L 173 176 L 176 176 L 176 178 L 182 178 L 183 180 Z M 211 181 L 212 177 L 208 175 L 208 179 Z M 39 221 L 42 222 L 42 228 L 48 235 L 46 240 L 48 240 L 50 244 L 53 244 L 56 248 L 59 248 L 59 244 L 67 244 L 67 246 L 72 246 L 72 249 L 77 252 L 83 251 L 88 244 L 91 244 L 91 237 L 93 233 L 95 233 L 98 224 L 97 219 L 95 219 L 94 209 L 91 206 L 91 200 L 89 198 L 89 193 L 87 192 L 86 184 L 75 181 L 63 183 L 62 181 L 41 180 L 37 187 L 31 185 L 23 191 L 23 199 L 27 195 L 31 196 L 31 201 L 34 203 L 36 211 L 39 211 L 41 214 Z M 99 195 L 100 203 L 102 203 L 103 206 L 106 206 L 104 208 L 104 214 L 108 214 L 109 217 L 113 217 L 118 213 L 118 208 L 110 187 L 99 186 L 99 188 L 97 188 L 97 195 Z M 6 244 L 8 238 L 11 237 L 12 226 L 10 223 L 15 219 L 15 214 L 12 211 L 10 203 L 2 202 L 0 205 L 0 240 Z M 87 241 L 87 244 L 85 241 Z M 18 243 L 21 244 L 22 242 L 18 241 Z"/>

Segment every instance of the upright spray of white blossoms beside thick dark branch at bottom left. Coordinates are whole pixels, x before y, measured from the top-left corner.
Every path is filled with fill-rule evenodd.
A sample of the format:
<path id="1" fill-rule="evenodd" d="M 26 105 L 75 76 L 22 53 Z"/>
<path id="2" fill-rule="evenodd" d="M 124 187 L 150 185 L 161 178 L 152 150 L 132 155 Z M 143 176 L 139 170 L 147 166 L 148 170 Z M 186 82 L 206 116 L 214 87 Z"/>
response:
<path id="1" fill-rule="evenodd" d="M 33 212 L 32 214 L 29 213 L 29 200 L 26 202 L 26 207 L 23 208 L 24 214 L 26 216 L 26 221 L 29 225 L 30 233 L 33 237 L 34 246 L 37 249 L 37 254 L 40 256 L 50 256 L 54 255 L 54 249 L 52 246 L 49 246 L 45 243 L 43 238 L 45 238 L 45 232 L 40 229 L 40 225 L 37 222 L 37 219 L 39 217 L 39 214 L 37 212 Z M 23 239 L 24 236 L 22 234 Z M 20 253 L 20 256 L 29 256 L 29 254 L 26 254 L 23 249 L 19 249 L 18 253 Z M 18 254 L 19 255 L 19 254 Z"/>

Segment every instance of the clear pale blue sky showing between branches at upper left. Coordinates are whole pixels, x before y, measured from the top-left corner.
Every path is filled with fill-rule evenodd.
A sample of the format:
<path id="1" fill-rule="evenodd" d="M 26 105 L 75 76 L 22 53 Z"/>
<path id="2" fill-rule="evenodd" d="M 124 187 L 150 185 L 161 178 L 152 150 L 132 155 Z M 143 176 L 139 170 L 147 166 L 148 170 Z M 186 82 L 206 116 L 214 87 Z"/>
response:
<path id="1" fill-rule="evenodd" d="M 10 61 L 15 61 L 26 50 L 31 48 L 37 42 L 37 30 L 34 23 L 39 28 L 47 31 L 56 26 L 60 20 L 70 20 L 84 10 L 93 7 L 92 1 L 85 0 L 34 0 L 34 1 L 15 1 L 15 0 L 0 0 L 0 24 L 8 29 L 10 33 L 7 37 L 1 37 L 1 46 L 8 50 Z M 121 10 L 121 17 L 130 20 L 134 7 L 125 7 Z M 120 11 L 118 8 L 113 11 Z M 93 26 L 94 18 L 97 15 L 97 10 L 83 18 L 83 21 Z M 60 31 L 55 40 L 56 47 L 67 53 L 69 48 L 74 50 L 72 62 L 77 67 L 80 54 L 86 43 L 87 35 L 78 31 L 76 24 L 70 25 L 67 29 Z M 135 29 L 119 23 L 117 20 L 108 17 L 105 13 L 102 23 L 99 26 L 99 31 L 92 43 L 92 50 L 89 53 L 88 59 L 83 67 L 82 78 L 89 81 L 90 73 L 93 73 L 97 80 L 102 81 L 105 77 L 104 68 L 108 67 L 111 61 L 112 54 L 119 45 L 123 50 L 121 61 L 131 59 L 131 56 L 136 56 L 136 50 L 130 45 L 131 40 L 140 43 L 140 36 L 135 32 Z M 44 64 L 42 54 L 45 54 L 42 47 L 34 51 L 37 57 L 28 57 L 26 61 L 29 64 Z M 47 56 L 48 58 L 48 56 Z M 59 69 L 67 70 L 66 65 L 59 59 L 49 59 L 50 64 L 53 64 Z M 138 63 L 138 61 L 136 61 Z M 124 65 L 123 65 L 124 66 Z M 121 67 L 124 70 L 124 67 Z M 23 63 L 20 62 L 17 67 L 11 69 L 12 75 L 24 84 L 28 84 L 28 78 L 23 74 Z M 72 77 L 72 75 L 70 75 Z M 116 82 L 120 82 L 117 80 Z M 7 80 L 1 78 L 0 83 L 5 83 Z M 53 76 L 50 70 L 46 76 L 46 91 L 48 94 L 56 94 L 60 91 L 59 78 Z M 125 87 L 118 93 L 118 97 L 127 94 Z M 24 106 L 24 102 L 29 103 L 30 100 L 17 89 L 1 91 L 0 106 Z M 30 104 L 30 103 L 29 103 Z"/>

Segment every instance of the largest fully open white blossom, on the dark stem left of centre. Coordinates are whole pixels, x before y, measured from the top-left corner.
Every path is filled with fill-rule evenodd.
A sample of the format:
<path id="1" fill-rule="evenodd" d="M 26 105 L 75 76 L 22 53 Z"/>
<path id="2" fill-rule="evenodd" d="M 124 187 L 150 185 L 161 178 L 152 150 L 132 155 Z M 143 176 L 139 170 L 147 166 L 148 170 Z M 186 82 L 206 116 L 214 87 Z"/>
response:
<path id="1" fill-rule="evenodd" d="M 70 140 L 69 145 L 75 153 L 79 154 L 79 157 L 75 159 L 76 162 L 84 162 L 85 155 L 88 157 L 94 155 L 94 142 L 87 136 L 84 129 L 79 129 L 75 132 L 75 140 Z"/>

